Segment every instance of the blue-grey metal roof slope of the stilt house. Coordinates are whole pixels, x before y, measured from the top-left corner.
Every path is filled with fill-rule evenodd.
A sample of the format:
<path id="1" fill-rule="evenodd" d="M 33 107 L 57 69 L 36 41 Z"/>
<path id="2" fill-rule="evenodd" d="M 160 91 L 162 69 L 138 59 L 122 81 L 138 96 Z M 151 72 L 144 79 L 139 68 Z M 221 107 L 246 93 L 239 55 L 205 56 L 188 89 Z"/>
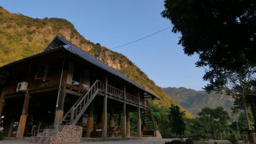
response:
<path id="1" fill-rule="evenodd" d="M 66 45 L 62 45 L 63 48 L 65 48 L 67 51 L 81 57 L 82 59 L 108 71 L 109 73 L 125 80 L 126 82 L 131 83 L 132 85 L 136 86 L 137 88 L 145 91 L 146 93 L 152 95 L 153 97 L 159 99 L 158 97 L 156 97 L 156 95 L 152 94 L 151 92 L 145 90 L 143 87 L 141 87 L 140 85 L 138 85 L 137 83 L 131 81 L 130 79 L 126 78 L 123 74 L 121 74 L 119 71 L 115 70 L 114 68 L 106 65 L 105 63 L 99 61 L 98 59 L 96 59 L 95 57 L 91 56 L 89 53 L 87 53 L 86 51 L 83 51 L 82 49 L 80 49 L 78 46 L 74 45 L 73 43 L 67 41 L 66 39 L 60 37 L 60 36 L 56 36 L 54 39 L 58 38 L 59 40 L 61 40 L 62 42 L 66 43 Z M 53 39 L 53 41 L 54 41 Z M 49 44 L 50 45 L 50 44 Z M 45 51 L 49 51 L 48 47 L 49 45 L 46 47 Z M 51 50 L 50 50 L 51 51 Z"/>

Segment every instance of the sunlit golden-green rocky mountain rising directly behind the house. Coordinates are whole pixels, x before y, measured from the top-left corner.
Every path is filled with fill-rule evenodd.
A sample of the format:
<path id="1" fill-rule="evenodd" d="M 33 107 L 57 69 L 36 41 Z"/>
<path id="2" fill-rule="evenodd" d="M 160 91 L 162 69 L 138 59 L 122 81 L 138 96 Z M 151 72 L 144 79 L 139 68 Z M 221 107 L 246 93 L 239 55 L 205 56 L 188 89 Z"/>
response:
<path id="1" fill-rule="evenodd" d="M 10 13 L 0 7 L 0 66 L 42 52 L 55 35 L 71 41 L 80 49 L 158 95 L 161 101 L 155 101 L 154 104 L 163 107 L 169 107 L 170 104 L 179 105 L 127 57 L 110 51 L 100 43 L 95 44 L 87 40 L 66 19 L 31 18 L 23 14 Z M 189 112 L 186 116 L 193 117 Z"/>

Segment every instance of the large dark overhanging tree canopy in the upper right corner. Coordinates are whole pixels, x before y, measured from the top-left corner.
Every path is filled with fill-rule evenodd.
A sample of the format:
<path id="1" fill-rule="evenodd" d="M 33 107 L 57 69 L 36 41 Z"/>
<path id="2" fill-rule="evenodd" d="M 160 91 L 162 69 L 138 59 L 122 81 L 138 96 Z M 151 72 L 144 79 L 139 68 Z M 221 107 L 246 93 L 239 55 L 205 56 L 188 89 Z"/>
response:
<path id="1" fill-rule="evenodd" d="M 197 66 L 208 66 L 205 78 L 219 68 L 255 66 L 256 1 L 165 0 L 164 18 L 181 33 L 184 53 L 199 55 Z"/>

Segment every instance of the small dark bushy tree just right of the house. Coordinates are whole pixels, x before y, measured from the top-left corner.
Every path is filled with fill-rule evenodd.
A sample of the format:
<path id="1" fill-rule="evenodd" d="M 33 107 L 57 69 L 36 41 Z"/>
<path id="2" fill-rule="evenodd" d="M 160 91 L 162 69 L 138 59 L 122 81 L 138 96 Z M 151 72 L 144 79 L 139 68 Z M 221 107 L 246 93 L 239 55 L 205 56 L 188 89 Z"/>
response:
<path id="1" fill-rule="evenodd" d="M 169 108 L 168 119 L 170 122 L 171 132 L 177 135 L 183 135 L 185 131 L 185 111 L 181 111 L 179 106 L 171 105 Z"/>

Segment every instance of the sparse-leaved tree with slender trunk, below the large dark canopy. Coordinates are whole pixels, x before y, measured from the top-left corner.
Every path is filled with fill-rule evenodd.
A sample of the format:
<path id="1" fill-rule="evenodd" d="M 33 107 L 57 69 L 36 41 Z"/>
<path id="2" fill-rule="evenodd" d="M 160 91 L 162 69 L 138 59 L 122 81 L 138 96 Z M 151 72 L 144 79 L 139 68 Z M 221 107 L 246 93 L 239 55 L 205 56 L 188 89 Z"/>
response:
<path id="1" fill-rule="evenodd" d="M 219 74 L 215 81 L 210 81 L 204 88 L 208 92 L 217 91 L 217 93 L 231 95 L 236 101 L 232 107 L 234 113 L 242 109 L 247 118 L 247 127 L 251 130 L 250 119 L 247 113 L 245 103 L 246 93 L 251 93 L 255 90 L 256 67 L 244 66 L 239 71 L 225 70 L 223 74 Z M 239 99 L 238 99 L 239 98 Z"/>

